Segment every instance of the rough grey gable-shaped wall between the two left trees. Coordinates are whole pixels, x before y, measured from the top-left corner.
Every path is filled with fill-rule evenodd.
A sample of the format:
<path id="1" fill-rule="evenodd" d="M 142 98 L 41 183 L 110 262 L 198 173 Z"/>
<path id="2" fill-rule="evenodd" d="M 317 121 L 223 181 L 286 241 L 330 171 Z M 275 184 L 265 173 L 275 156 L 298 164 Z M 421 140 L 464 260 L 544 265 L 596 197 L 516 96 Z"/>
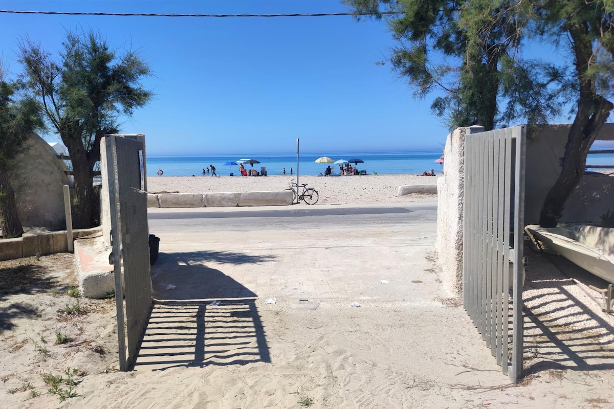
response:
<path id="1" fill-rule="evenodd" d="M 63 186 L 72 185 L 68 167 L 36 134 L 28 136 L 24 146 L 9 166 L 21 224 L 65 229 Z"/>

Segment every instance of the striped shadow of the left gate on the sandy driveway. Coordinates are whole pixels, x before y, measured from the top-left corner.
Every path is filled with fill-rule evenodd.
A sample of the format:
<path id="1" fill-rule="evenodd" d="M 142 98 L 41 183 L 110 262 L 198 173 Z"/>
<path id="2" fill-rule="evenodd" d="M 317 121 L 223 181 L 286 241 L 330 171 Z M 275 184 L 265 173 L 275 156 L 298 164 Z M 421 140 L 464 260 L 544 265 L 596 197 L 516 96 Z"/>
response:
<path id="1" fill-rule="evenodd" d="M 160 254 L 152 266 L 153 308 L 134 369 L 271 362 L 257 294 L 206 266 L 270 259 L 223 251 Z"/>

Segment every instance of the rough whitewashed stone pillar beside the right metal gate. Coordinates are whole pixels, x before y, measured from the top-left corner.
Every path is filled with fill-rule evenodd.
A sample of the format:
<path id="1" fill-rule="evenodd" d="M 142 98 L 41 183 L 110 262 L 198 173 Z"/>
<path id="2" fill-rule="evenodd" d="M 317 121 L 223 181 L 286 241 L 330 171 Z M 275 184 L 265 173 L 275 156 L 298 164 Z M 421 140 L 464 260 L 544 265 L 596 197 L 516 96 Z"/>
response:
<path id="1" fill-rule="evenodd" d="M 465 137 L 478 132 L 484 132 L 484 127 L 457 128 L 448 135 L 443 153 L 443 177 L 437 180 L 435 250 L 442 270 L 443 287 L 453 295 L 462 292 Z"/>

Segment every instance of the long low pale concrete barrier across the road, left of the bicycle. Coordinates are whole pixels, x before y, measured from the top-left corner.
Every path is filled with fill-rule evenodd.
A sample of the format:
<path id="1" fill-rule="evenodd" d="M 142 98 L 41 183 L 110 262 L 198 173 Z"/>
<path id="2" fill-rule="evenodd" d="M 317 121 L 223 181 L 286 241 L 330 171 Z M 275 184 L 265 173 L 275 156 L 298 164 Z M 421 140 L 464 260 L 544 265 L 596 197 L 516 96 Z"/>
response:
<path id="1" fill-rule="evenodd" d="M 252 207 L 292 204 L 292 191 L 147 194 L 147 207 Z"/>

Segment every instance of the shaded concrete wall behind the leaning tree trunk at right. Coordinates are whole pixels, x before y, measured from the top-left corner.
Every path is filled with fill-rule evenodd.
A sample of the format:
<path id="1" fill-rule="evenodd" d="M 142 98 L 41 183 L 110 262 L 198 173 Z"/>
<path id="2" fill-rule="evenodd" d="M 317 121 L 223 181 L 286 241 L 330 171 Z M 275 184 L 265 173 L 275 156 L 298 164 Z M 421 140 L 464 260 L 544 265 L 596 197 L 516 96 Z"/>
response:
<path id="1" fill-rule="evenodd" d="M 527 132 L 524 224 L 538 224 L 543 201 L 561 174 L 569 124 L 540 126 Z M 605 124 L 597 137 L 614 139 L 614 124 Z M 585 175 L 563 210 L 561 223 L 597 223 L 599 216 L 614 210 L 614 177 Z"/>

